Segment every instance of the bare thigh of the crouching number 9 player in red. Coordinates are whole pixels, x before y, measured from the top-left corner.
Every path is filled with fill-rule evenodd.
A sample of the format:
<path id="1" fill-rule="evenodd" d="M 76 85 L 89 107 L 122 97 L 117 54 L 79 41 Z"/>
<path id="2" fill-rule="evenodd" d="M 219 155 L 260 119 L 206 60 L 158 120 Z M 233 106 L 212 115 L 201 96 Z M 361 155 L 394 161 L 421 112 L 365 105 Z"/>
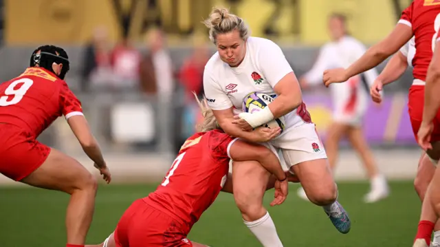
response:
<path id="1" fill-rule="evenodd" d="M 72 193 L 75 189 L 96 189 L 96 179 L 74 158 L 51 149 L 39 168 L 21 182 L 43 189 Z"/>

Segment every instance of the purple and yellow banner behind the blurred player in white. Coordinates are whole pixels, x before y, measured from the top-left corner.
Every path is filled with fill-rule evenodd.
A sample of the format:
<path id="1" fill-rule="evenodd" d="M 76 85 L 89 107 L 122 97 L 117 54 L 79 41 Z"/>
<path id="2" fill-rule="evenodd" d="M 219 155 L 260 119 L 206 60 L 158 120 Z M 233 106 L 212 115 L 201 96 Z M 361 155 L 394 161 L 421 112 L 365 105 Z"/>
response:
<path id="1" fill-rule="evenodd" d="M 331 96 L 305 93 L 303 100 L 322 141 L 325 141 L 327 130 L 331 126 L 333 107 Z M 363 120 L 364 136 L 367 142 L 397 146 L 417 144 L 412 134 L 407 102 L 405 94 L 384 96 L 380 105 L 369 100 L 369 107 Z"/>

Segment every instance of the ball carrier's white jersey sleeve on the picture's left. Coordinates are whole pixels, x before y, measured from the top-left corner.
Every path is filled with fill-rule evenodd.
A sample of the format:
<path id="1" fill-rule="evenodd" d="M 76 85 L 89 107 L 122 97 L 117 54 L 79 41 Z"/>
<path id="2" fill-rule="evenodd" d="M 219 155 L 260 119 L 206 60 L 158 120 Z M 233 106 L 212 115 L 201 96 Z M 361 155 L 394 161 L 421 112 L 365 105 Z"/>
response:
<path id="1" fill-rule="evenodd" d="M 205 69 L 203 72 L 203 89 L 205 91 L 208 106 L 214 111 L 225 110 L 232 107 L 230 98 L 221 90 L 217 81 L 214 80 L 210 72 Z"/>

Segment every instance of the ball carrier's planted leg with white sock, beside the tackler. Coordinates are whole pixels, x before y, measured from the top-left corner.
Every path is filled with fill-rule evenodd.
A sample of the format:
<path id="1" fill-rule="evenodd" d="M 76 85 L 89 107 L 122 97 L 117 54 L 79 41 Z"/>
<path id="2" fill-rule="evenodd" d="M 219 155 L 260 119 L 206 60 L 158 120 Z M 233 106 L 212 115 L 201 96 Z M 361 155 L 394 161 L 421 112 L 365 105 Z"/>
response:
<path id="1" fill-rule="evenodd" d="M 245 161 L 232 164 L 234 200 L 241 211 L 245 225 L 263 246 L 277 247 L 283 244 L 276 233 L 269 212 L 263 206 L 263 196 L 269 178 L 270 173 L 261 167 L 259 162 Z"/>

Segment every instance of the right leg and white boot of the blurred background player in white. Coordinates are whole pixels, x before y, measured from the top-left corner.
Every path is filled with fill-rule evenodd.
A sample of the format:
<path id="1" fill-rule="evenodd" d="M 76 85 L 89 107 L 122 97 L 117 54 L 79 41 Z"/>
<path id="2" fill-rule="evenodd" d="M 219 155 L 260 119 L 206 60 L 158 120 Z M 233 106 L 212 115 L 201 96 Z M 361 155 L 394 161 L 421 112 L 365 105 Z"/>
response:
<path id="1" fill-rule="evenodd" d="M 362 164 L 364 164 L 366 172 L 370 178 L 371 190 L 364 197 L 364 201 L 371 203 L 388 197 L 388 182 L 386 182 L 385 176 L 379 172 L 379 169 L 375 164 L 373 153 L 371 152 L 369 145 L 366 143 L 364 134 L 362 133 L 362 128 L 360 126 L 353 125 L 349 127 L 347 134 L 353 149 L 359 153 L 360 158 L 362 159 Z"/>

